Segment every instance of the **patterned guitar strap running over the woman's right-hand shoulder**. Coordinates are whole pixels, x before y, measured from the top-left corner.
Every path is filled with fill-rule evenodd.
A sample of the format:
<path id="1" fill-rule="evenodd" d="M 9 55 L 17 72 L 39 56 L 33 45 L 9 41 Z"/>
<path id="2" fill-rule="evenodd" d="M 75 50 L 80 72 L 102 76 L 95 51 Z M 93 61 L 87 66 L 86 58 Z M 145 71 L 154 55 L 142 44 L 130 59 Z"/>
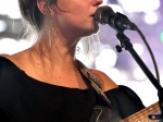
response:
<path id="1" fill-rule="evenodd" d="M 117 113 L 117 111 L 112 107 L 111 101 L 105 96 L 102 90 L 101 82 L 90 72 L 90 70 L 84 65 L 79 60 L 77 60 L 79 71 L 90 81 L 90 85 L 101 96 L 101 98 L 111 107 L 111 109 Z M 117 113 L 118 114 L 118 113 Z"/>

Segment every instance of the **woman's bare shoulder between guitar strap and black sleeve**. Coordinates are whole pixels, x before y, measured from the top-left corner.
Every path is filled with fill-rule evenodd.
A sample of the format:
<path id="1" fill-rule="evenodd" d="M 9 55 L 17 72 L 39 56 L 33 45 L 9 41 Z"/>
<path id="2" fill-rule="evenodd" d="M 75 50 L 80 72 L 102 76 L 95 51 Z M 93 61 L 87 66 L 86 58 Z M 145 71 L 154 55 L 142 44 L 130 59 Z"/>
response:
<path id="1" fill-rule="evenodd" d="M 118 87 L 104 72 L 95 69 L 90 72 L 101 82 L 104 91 Z"/>

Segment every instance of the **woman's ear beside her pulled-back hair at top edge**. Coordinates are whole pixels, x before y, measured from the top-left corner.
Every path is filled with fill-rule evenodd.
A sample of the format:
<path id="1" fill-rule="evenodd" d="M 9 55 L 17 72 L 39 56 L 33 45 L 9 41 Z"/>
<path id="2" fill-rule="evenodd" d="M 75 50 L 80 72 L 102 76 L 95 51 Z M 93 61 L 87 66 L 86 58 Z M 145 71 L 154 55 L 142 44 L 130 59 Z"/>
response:
<path id="1" fill-rule="evenodd" d="M 37 0 L 37 7 L 42 14 L 46 14 L 47 12 L 46 3 L 47 3 L 47 0 Z M 50 14 L 54 14 L 52 7 L 49 7 L 48 9 L 49 9 Z"/>

